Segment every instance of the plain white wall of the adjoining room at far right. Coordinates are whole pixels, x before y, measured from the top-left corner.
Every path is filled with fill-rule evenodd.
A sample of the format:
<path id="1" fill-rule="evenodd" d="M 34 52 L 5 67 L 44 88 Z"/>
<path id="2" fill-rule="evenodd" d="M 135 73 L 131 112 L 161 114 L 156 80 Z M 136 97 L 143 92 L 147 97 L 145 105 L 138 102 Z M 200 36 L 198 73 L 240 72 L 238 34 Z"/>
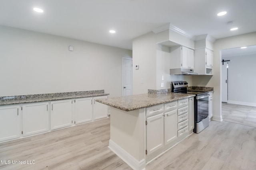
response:
<path id="1" fill-rule="evenodd" d="M 256 55 L 225 57 L 228 62 L 228 103 L 256 106 Z"/>

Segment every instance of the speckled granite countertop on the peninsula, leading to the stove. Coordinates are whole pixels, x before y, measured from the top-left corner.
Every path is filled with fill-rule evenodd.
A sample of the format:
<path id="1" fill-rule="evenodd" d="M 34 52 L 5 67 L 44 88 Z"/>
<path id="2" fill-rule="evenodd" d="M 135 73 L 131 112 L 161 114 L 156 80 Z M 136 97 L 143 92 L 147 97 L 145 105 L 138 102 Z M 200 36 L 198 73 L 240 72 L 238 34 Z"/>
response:
<path id="1" fill-rule="evenodd" d="M 164 94 L 137 94 L 132 96 L 97 99 L 96 102 L 106 104 L 124 111 L 132 111 L 144 107 L 155 106 L 168 102 L 174 102 L 184 98 L 194 97 L 194 94 L 164 93 Z"/>

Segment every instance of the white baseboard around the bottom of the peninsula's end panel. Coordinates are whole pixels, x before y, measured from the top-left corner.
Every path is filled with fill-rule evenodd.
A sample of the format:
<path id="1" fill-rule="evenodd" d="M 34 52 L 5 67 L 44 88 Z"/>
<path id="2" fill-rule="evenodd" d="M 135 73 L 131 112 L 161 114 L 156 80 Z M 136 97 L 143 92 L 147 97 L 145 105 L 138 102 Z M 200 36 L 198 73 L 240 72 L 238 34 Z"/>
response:
<path id="1" fill-rule="evenodd" d="M 145 170 L 146 161 L 142 159 L 140 161 L 136 160 L 132 155 L 126 152 L 124 149 L 119 147 L 114 141 L 109 140 L 108 148 L 112 150 L 117 156 L 119 156 L 126 164 L 128 164 L 134 170 Z"/>

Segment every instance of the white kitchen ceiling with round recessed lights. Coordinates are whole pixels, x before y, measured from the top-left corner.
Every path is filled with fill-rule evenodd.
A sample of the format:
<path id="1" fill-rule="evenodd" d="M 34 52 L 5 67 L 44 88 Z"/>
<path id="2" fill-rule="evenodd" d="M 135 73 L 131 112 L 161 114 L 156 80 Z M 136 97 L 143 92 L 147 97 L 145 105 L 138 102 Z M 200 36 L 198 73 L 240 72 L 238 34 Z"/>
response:
<path id="1" fill-rule="evenodd" d="M 0 0 L 0 4 L 0 25 L 124 49 L 132 49 L 135 37 L 168 23 L 191 37 L 208 34 L 219 39 L 256 31 L 256 0 Z M 36 13 L 34 7 L 44 12 Z M 221 11 L 227 14 L 217 16 Z M 238 30 L 230 31 L 232 27 Z"/>

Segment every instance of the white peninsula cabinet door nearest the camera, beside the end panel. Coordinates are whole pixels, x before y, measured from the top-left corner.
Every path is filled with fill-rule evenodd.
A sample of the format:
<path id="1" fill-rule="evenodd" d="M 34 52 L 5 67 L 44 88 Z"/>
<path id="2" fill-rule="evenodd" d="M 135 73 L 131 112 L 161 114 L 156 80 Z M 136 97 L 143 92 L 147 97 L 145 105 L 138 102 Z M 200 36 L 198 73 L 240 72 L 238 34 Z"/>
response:
<path id="1" fill-rule="evenodd" d="M 164 146 L 164 113 L 147 117 L 146 121 L 146 150 L 151 154 Z"/>

